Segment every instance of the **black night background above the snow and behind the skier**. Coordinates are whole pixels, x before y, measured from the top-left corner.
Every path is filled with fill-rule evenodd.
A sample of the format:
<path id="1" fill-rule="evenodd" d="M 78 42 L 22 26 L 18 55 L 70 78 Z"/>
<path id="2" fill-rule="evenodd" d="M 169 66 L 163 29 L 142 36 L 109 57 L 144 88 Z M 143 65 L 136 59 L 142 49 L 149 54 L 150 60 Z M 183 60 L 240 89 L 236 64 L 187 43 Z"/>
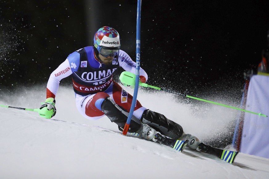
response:
<path id="1" fill-rule="evenodd" d="M 148 83 L 194 93 L 242 88 L 243 72 L 256 70 L 267 50 L 268 7 L 268 0 L 142 0 Z M 136 15 L 137 1 L 2 0 L 0 89 L 47 83 L 69 54 L 92 46 L 102 26 L 119 32 L 121 50 L 135 61 Z M 62 82 L 71 86 L 70 78 Z"/>

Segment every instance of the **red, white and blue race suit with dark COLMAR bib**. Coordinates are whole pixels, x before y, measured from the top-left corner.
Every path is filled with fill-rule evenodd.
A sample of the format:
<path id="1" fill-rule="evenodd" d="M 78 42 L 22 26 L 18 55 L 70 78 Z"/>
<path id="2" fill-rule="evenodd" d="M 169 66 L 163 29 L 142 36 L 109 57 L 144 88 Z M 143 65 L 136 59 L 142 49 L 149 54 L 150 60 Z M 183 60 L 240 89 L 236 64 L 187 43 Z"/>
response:
<path id="1" fill-rule="evenodd" d="M 136 63 L 122 50 L 119 51 L 118 56 L 114 57 L 112 65 L 106 66 L 96 59 L 92 46 L 79 49 L 70 54 L 67 59 L 51 73 L 47 83 L 47 98 L 55 98 L 60 81 L 71 75 L 76 98 L 76 107 L 84 117 L 91 120 L 103 117 L 104 113 L 101 111 L 100 106 L 107 96 L 110 96 L 117 105 L 129 112 L 132 103 L 132 95 L 127 93 L 112 79 L 114 71 L 120 66 L 125 71 L 135 74 Z M 146 82 L 147 79 L 148 75 L 140 68 L 140 81 Z M 98 94 L 96 95 L 96 93 Z M 145 110 L 146 108 L 143 107 L 139 101 L 136 101 L 133 115 L 141 119 Z"/>

